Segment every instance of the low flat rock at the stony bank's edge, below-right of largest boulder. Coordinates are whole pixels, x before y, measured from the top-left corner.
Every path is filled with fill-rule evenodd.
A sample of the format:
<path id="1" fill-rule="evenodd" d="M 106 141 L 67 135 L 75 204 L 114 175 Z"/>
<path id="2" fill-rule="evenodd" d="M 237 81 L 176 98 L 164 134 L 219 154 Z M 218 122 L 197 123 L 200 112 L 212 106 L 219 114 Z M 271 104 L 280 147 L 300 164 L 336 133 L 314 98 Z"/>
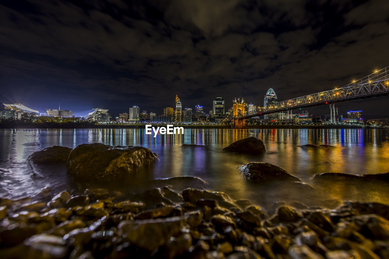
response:
<path id="1" fill-rule="evenodd" d="M 199 177 L 178 176 L 165 179 L 151 180 L 146 182 L 146 185 L 149 188 L 171 186 L 172 189 L 183 190 L 190 187 L 204 189 L 208 185 L 208 183 L 200 179 Z"/>

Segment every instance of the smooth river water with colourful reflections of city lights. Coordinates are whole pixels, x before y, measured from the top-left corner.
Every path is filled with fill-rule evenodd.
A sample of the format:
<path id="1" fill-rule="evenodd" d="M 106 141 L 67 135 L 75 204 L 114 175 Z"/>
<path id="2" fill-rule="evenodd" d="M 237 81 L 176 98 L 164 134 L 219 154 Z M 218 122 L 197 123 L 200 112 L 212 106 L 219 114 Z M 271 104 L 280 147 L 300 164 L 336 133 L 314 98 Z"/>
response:
<path id="1" fill-rule="evenodd" d="M 246 137 L 261 139 L 263 156 L 226 154 L 223 147 Z M 35 151 L 60 145 L 75 148 L 84 143 L 136 145 L 159 156 L 144 180 L 195 176 L 207 181 L 207 189 L 231 197 L 247 198 L 272 210 L 283 202 L 336 207 L 343 200 L 389 204 L 387 182 L 334 179 L 316 186 L 317 173 L 376 174 L 389 172 L 389 131 L 384 129 L 185 129 L 182 135 L 145 135 L 144 129 L 1 129 L 0 197 L 29 196 L 48 186 L 55 194 L 71 189 L 64 165 L 31 166 L 26 162 Z M 207 145 L 183 149 L 182 144 Z M 300 147 L 325 144 L 335 148 Z M 238 166 L 263 161 L 287 170 L 310 184 L 315 191 L 280 182 L 250 184 L 240 177 Z M 324 162 L 324 163 L 322 163 Z"/>

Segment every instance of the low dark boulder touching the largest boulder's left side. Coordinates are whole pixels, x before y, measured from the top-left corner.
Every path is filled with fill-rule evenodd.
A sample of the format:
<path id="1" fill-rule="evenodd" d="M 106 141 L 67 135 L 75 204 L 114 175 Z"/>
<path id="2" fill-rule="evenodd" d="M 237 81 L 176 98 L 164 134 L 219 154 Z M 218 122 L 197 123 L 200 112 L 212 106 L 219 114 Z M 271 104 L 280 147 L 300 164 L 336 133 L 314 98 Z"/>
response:
<path id="1" fill-rule="evenodd" d="M 70 151 L 72 151 L 72 149 L 68 147 L 47 147 L 46 149 L 33 152 L 27 160 L 32 161 L 34 163 L 66 162 L 69 157 Z"/>

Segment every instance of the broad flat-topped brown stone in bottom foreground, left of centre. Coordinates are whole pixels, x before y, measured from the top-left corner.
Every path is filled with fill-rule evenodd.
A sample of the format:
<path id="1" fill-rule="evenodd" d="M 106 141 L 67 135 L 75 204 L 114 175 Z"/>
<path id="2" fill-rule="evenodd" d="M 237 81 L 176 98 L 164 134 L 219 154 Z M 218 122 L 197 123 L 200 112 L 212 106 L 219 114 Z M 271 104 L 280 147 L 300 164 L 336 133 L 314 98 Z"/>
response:
<path id="1" fill-rule="evenodd" d="M 152 251 L 177 236 L 184 226 L 184 217 L 122 221 L 117 226 L 120 235 L 142 249 Z"/>

